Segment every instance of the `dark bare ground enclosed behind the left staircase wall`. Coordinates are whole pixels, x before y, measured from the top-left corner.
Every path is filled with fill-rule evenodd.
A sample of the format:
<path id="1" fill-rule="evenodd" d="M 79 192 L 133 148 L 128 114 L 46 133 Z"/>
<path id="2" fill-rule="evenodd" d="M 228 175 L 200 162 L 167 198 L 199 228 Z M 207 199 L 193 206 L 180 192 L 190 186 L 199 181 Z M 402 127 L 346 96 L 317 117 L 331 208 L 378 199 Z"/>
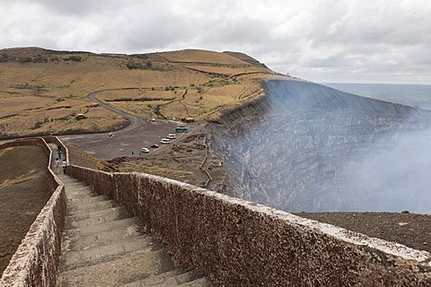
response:
<path id="1" fill-rule="evenodd" d="M 52 191 L 48 159 L 39 146 L 0 150 L 0 273 L 21 243 Z"/>

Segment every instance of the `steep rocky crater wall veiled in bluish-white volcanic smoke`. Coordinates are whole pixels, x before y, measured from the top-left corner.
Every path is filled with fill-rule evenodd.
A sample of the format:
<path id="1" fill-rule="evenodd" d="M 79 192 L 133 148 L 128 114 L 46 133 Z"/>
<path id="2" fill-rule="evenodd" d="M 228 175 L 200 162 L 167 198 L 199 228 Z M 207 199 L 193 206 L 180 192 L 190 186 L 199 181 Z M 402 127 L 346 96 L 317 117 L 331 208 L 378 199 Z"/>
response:
<path id="1" fill-rule="evenodd" d="M 314 83 L 266 92 L 212 126 L 231 193 L 287 212 L 431 212 L 431 112 Z"/>

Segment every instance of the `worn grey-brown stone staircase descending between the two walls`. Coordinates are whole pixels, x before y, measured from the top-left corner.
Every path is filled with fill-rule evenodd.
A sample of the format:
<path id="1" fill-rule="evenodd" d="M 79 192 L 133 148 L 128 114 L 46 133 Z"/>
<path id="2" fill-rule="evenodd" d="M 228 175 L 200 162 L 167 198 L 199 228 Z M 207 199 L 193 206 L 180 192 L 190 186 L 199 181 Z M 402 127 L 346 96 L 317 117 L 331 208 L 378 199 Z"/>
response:
<path id="1" fill-rule="evenodd" d="M 214 286 L 176 266 L 136 218 L 91 187 L 60 174 L 67 196 L 57 286 Z"/>

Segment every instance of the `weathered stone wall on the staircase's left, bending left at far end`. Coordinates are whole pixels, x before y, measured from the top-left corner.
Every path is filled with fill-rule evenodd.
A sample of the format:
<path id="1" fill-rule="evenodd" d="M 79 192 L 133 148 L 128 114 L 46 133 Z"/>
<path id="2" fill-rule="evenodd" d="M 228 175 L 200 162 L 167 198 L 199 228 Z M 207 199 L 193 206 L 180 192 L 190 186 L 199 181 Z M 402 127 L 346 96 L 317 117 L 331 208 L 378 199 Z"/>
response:
<path id="1" fill-rule="evenodd" d="M 50 170 L 51 151 L 44 139 L 4 143 L 0 149 L 22 145 L 40 145 L 48 153 L 48 184 L 54 192 L 4 270 L 0 286 L 56 286 L 66 217 L 65 187 Z"/>

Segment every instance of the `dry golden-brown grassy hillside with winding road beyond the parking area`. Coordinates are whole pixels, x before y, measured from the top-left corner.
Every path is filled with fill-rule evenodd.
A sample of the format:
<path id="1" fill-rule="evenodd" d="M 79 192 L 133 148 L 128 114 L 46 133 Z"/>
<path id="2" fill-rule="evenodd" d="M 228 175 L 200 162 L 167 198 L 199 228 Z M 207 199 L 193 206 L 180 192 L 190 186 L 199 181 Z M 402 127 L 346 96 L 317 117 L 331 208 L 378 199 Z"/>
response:
<path id="1" fill-rule="evenodd" d="M 87 94 L 141 117 L 212 119 L 279 77 L 242 53 L 186 49 L 138 55 L 0 50 L 0 138 L 101 132 L 128 122 Z M 154 113 L 158 111 L 158 113 Z M 76 120 L 77 114 L 84 120 Z"/>

